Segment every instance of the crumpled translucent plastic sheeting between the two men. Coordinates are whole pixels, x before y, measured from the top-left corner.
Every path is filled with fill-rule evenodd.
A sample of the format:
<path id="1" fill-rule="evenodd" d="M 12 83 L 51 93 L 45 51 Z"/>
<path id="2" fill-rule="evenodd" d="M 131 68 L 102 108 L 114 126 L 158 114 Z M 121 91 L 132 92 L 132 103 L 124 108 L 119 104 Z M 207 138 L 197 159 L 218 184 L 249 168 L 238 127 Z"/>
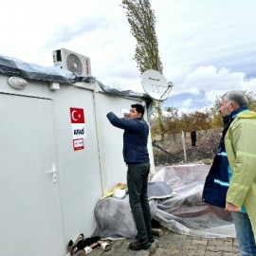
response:
<path id="1" fill-rule="evenodd" d="M 164 167 L 152 181 L 165 181 L 176 195 L 158 201 L 154 219 L 173 231 L 200 237 L 235 237 L 231 215 L 202 202 L 210 165 Z"/>

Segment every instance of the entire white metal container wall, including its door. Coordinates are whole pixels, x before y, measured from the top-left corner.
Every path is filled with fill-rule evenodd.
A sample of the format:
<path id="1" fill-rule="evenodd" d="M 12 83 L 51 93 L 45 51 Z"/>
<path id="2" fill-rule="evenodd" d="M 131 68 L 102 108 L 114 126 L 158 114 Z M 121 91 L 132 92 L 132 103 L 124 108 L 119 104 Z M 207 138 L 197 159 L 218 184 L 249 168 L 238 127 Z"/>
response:
<path id="1" fill-rule="evenodd" d="M 105 94 L 94 83 L 51 91 L 48 82 L 28 81 L 17 90 L 8 79 L 0 75 L 1 255 L 27 256 L 31 248 L 37 256 L 64 255 L 69 240 L 93 233 L 101 196 L 126 183 L 123 131 L 106 114 L 121 117 L 131 104 L 144 102 Z M 83 109 L 85 117 L 79 151 L 73 148 L 70 108 Z M 149 153 L 155 171 L 151 137 Z"/>

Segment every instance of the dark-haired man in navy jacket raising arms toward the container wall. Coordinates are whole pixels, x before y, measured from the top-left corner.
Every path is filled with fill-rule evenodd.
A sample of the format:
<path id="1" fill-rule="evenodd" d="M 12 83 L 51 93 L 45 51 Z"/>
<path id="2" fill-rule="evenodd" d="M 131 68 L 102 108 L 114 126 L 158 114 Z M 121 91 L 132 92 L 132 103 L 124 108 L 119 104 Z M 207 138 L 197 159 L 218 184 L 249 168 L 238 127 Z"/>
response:
<path id="1" fill-rule="evenodd" d="M 137 227 L 137 241 L 129 245 L 129 248 L 134 250 L 149 248 L 151 243 L 154 243 L 147 195 L 150 173 L 147 149 L 149 126 L 143 119 L 144 111 L 141 104 L 133 104 L 129 119 L 119 119 L 112 112 L 107 114 L 107 118 L 114 126 L 124 130 L 122 153 L 128 166 L 129 202 Z"/>

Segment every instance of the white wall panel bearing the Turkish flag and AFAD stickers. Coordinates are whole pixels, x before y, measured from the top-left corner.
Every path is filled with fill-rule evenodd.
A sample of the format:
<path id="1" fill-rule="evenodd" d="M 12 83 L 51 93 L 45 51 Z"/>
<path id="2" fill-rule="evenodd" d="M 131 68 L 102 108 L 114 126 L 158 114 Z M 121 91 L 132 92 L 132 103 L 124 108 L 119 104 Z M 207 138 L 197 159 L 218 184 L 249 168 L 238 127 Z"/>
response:
<path id="1" fill-rule="evenodd" d="M 59 159 L 65 242 L 96 228 L 94 208 L 102 194 L 98 138 L 93 91 L 61 86 L 52 93 L 54 123 Z M 74 151 L 70 107 L 82 108 L 86 138 L 84 149 Z"/>

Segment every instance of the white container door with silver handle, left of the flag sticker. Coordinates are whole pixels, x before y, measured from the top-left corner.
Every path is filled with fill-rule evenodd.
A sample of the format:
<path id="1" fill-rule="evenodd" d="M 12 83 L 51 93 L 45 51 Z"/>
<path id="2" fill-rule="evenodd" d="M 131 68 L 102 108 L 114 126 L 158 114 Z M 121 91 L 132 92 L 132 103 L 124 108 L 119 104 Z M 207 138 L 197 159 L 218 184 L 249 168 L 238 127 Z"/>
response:
<path id="1" fill-rule="evenodd" d="M 64 255 L 53 131 L 52 101 L 0 94 L 1 255 Z"/>

